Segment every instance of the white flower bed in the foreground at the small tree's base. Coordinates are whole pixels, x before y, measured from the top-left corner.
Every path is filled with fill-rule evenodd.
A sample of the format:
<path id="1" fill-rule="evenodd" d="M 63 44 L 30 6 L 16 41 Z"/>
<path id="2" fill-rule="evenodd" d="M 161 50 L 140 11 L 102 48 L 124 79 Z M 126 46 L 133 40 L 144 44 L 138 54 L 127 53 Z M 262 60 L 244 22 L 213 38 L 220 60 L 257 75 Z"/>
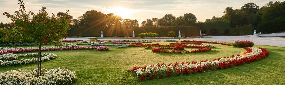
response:
<path id="1" fill-rule="evenodd" d="M 0 85 L 68 85 L 77 78 L 75 72 L 68 69 L 41 69 L 41 76 L 34 70 L 11 70 L 0 73 Z"/>

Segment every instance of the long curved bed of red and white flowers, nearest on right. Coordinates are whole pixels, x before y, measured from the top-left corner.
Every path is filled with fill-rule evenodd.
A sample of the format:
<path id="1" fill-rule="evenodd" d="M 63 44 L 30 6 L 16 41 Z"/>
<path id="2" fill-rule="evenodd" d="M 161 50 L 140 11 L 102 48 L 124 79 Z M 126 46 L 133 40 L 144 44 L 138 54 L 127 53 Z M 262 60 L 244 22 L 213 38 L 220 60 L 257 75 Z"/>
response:
<path id="1" fill-rule="evenodd" d="M 242 64 L 251 63 L 262 58 L 266 58 L 269 55 L 269 52 L 262 48 L 246 47 L 244 49 L 247 50 L 244 55 L 238 54 L 230 57 L 200 62 L 192 61 L 182 63 L 176 62 L 174 64 L 152 64 L 144 67 L 133 67 L 128 71 L 136 75 L 138 81 L 144 81 L 177 75 L 203 73 L 207 70 L 226 69 L 232 66 L 240 66 Z M 159 48 L 155 48 L 155 50 L 159 51 Z"/>

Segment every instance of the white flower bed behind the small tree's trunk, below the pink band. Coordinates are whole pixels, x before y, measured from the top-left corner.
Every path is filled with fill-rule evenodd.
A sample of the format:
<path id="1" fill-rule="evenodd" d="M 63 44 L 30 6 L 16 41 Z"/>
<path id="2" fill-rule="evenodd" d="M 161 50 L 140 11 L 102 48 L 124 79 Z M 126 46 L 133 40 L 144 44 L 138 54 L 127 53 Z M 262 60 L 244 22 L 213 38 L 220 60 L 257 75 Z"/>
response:
<path id="1" fill-rule="evenodd" d="M 21 60 L 17 60 L 17 59 L 18 59 L 18 57 L 37 57 L 37 55 L 38 55 L 37 53 L 29 53 L 29 54 L 7 53 L 7 54 L 2 54 L 2 55 L 0 55 L 0 67 L 36 63 L 37 58 L 21 59 Z M 41 56 L 41 61 L 49 61 L 49 60 L 52 60 L 54 58 L 56 58 L 56 54 L 43 53 Z"/>

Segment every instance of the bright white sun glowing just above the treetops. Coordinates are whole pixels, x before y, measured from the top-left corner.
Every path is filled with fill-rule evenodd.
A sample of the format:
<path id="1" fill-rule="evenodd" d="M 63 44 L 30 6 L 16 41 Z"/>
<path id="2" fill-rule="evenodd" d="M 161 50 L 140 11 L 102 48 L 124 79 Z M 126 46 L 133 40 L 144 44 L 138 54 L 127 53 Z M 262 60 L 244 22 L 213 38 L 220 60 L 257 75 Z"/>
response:
<path id="1" fill-rule="evenodd" d="M 120 16 L 123 19 L 130 18 L 132 10 L 122 7 L 113 7 L 112 9 L 107 10 L 107 13 L 114 13 L 115 15 Z"/>

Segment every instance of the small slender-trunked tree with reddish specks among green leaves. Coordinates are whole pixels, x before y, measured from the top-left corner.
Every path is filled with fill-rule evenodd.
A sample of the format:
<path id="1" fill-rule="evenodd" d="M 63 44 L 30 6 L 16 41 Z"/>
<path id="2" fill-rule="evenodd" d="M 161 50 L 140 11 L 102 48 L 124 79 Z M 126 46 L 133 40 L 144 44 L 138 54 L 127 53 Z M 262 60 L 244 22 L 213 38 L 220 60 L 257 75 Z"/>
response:
<path id="1" fill-rule="evenodd" d="M 15 11 L 14 15 L 4 12 L 7 18 L 15 23 L 16 27 L 21 27 L 35 42 L 39 44 L 37 57 L 37 77 L 41 75 L 41 46 L 43 43 L 55 42 L 67 34 L 69 30 L 70 19 L 66 18 L 69 10 L 66 10 L 66 15 L 56 17 L 54 14 L 48 16 L 45 7 L 39 10 L 37 14 L 33 12 L 26 13 L 25 6 L 22 0 L 18 1 L 20 10 Z"/>

